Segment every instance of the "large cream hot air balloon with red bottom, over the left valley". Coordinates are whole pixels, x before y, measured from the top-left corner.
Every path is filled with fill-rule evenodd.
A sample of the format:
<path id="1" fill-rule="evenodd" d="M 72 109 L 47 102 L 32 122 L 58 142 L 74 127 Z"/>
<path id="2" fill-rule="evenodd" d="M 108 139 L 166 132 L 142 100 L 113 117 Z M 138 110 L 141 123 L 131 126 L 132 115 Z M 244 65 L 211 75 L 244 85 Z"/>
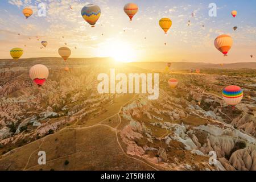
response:
<path id="1" fill-rule="evenodd" d="M 49 76 L 49 70 L 45 65 L 36 64 L 30 68 L 30 78 L 33 80 L 36 85 L 39 87 L 46 82 L 46 79 Z"/>

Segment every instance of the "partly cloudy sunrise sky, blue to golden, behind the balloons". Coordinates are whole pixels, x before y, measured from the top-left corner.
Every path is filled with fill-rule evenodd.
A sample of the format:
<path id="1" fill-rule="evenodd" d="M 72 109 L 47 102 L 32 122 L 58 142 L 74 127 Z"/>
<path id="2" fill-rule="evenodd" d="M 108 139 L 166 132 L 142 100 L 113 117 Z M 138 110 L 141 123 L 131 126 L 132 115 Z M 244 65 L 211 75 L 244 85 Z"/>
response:
<path id="1" fill-rule="evenodd" d="M 123 6 L 129 2 L 1 0 L 0 59 L 10 59 L 9 52 L 14 47 L 23 48 L 22 58 L 59 57 L 58 49 L 67 43 L 72 51 L 71 57 L 205 63 L 256 61 L 254 0 L 134 0 L 139 11 L 131 22 L 123 11 Z M 46 5 L 45 17 L 38 15 L 39 3 Z M 94 28 L 81 16 L 82 7 L 89 3 L 101 8 L 101 17 Z M 217 5 L 216 17 L 208 14 L 210 3 Z M 73 10 L 69 9 L 70 5 Z M 30 7 L 34 11 L 28 19 L 22 14 L 24 7 Z M 232 10 L 238 12 L 236 18 L 231 15 Z M 192 12 L 195 13 L 194 18 L 191 16 Z M 159 27 L 160 18 L 172 20 L 172 27 L 167 35 Z M 188 26 L 188 20 L 191 21 L 191 26 Z M 233 30 L 234 26 L 238 27 L 236 31 Z M 214 47 L 214 39 L 221 34 L 228 34 L 233 38 L 233 47 L 228 57 L 224 57 Z M 43 40 L 48 42 L 48 46 L 41 49 Z M 254 55 L 253 59 L 250 55 Z"/>

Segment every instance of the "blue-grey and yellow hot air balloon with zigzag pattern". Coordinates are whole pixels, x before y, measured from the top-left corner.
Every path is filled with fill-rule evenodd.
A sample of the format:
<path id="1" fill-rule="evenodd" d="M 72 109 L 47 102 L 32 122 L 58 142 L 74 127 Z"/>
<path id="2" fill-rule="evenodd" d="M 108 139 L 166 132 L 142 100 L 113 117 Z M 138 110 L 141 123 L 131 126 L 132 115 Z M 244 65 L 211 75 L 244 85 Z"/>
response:
<path id="1" fill-rule="evenodd" d="M 96 24 L 101 16 L 101 9 L 97 5 L 85 5 L 81 11 L 82 18 L 89 23 L 92 27 Z"/>

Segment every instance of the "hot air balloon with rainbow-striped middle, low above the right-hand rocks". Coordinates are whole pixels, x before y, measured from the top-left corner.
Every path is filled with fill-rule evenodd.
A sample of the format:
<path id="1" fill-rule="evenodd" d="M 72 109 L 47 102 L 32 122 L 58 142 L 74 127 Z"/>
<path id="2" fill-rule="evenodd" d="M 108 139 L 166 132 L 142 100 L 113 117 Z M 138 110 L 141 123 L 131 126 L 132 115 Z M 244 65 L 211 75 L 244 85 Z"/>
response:
<path id="1" fill-rule="evenodd" d="M 226 104 L 236 106 L 243 98 L 243 90 L 236 85 L 227 86 L 222 90 L 222 97 Z"/>

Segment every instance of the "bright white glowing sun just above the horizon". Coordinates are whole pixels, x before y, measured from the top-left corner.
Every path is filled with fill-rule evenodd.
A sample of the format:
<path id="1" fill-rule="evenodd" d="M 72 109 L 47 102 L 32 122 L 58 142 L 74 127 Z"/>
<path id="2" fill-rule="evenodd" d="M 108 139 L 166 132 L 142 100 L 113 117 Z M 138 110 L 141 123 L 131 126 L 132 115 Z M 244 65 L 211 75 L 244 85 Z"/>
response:
<path id="1" fill-rule="evenodd" d="M 115 61 L 122 63 L 129 63 L 135 60 L 135 51 L 133 47 L 128 43 L 113 42 L 109 47 L 110 57 L 113 57 Z"/>

